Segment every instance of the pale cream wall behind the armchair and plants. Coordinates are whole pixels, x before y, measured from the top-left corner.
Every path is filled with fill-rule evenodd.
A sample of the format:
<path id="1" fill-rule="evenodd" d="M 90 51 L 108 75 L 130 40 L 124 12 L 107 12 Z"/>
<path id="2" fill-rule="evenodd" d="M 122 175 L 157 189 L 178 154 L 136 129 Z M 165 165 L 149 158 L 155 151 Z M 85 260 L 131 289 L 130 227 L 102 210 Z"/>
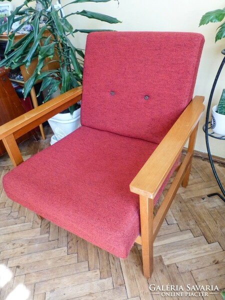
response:
<path id="1" fill-rule="evenodd" d="M 6 1 L 5 1 L 6 2 Z M 35 2 L 35 1 L 34 1 Z M 61 0 L 62 5 L 70 0 Z M 12 0 L 13 8 L 22 3 L 22 0 Z M 193 31 L 200 32 L 205 36 L 205 44 L 198 71 L 194 94 L 204 95 L 207 104 L 211 85 L 213 83 L 218 66 L 223 58 L 220 53 L 225 48 L 225 39 L 214 43 L 215 29 L 218 24 L 208 24 L 198 27 L 201 15 L 206 11 L 223 8 L 224 0 L 116 0 L 106 3 L 79 3 L 66 6 L 65 13 L 76 10 L 92 10 L 122 20 L 122 23 L 107 24 L 105 22 L 87 19 L 82 16 L 72 16 L 69 21 L 74 28 L 111 28 L 116 30 L 153 30 L 153 31 Z M 72 9 L 71 9 L 72 8 Z M 77 47 L 85 45 L 85 34 L 77 34 Z M 225 70 L 224 70 L 225 72 Z M 214 93 L 213 104 L 220 97 L 222 88 L 225 88 L 221 74 Z M 202 125 L 205 122 L 205 114 L 199 125 L 195 149 L 206 152 L 204 132 Z M 225 143 L 210 138 L 211 153 L 225 158 Z"/>

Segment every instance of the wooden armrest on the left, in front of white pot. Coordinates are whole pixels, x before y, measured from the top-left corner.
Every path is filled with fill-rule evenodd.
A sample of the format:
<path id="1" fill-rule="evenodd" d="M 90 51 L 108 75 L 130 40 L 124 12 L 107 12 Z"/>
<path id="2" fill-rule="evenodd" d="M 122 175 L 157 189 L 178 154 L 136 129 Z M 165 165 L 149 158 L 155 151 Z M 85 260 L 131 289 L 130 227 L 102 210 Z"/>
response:
<path id="1" fill-rule="evenodd" d="M 82 87 L 75 87 L 1 125 L 0 139 L 10 134 L 13 134 L 15 139 L 18 138 L 56 113 L 79 101 L 81 93 Z"/>

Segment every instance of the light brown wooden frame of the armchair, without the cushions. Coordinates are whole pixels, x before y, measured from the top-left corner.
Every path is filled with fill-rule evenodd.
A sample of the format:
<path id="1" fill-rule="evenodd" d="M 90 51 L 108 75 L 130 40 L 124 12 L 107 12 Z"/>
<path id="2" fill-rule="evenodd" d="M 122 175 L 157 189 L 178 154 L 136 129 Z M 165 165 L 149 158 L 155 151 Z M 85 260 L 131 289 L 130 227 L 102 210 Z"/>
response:
<path id="1" fill-rule="evenodd" d="M 23 161 L 15 139 L 79 101 L 81 93 L 81 86 L 73 88 L 0 126 L 0 139 L 14 166 Z M 139 195 L 141 235 L 135 241 L 142 245 L 143 274 L 147 278 L 153 271 L 153 241 L 180 184 L 184 187 L 188 184 L 198 122 L 204 110 L 203 100 L 203 96 L 192 99 L 130 183 L 130 191 Z M 153 199 L 188 139 L 185 158 L 154 216 Z"/>

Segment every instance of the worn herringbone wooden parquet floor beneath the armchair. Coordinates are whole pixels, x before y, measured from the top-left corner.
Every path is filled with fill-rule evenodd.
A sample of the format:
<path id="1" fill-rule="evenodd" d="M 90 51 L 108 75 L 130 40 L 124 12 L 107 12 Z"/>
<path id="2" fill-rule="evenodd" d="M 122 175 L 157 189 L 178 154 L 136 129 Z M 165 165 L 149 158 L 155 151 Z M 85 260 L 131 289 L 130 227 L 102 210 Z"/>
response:
<path id="1" fill-rule="evenodd" d="M 30 139 L 20 148 L 27 158 L 48 145 L 47 134 L 45 141 Z M 140 246 L 135 244 L 127 259 L 119 259 L 9 200 L 2 176 L 10 168 L 7 155 L 1 156 L 0 300 L 222 299 L 225 202 L 206 195 L 219 191 L 207 160 L 194 157 L 189 185 L 178 190 L 154 242 L 149 280 L 142 276 Z M 224 166 L 216 168 L 225 184 Z M 170 291 L 150 291 L 149 285 L 170 286 Z M 203 291 L 207 285 L 219 291 Z"/>

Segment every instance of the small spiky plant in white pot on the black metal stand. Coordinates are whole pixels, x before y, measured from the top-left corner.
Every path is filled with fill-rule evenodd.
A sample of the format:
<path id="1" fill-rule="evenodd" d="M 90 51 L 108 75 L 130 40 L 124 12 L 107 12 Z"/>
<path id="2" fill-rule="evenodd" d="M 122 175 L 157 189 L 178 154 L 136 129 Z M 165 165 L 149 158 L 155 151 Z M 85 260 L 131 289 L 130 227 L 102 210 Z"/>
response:
<path id="1" fill-rule="evenodd" d="M 225 135 L 225 88 L 222 90 L 218 105 L 212 107 L 211 129 L 217 134 Z"/>

